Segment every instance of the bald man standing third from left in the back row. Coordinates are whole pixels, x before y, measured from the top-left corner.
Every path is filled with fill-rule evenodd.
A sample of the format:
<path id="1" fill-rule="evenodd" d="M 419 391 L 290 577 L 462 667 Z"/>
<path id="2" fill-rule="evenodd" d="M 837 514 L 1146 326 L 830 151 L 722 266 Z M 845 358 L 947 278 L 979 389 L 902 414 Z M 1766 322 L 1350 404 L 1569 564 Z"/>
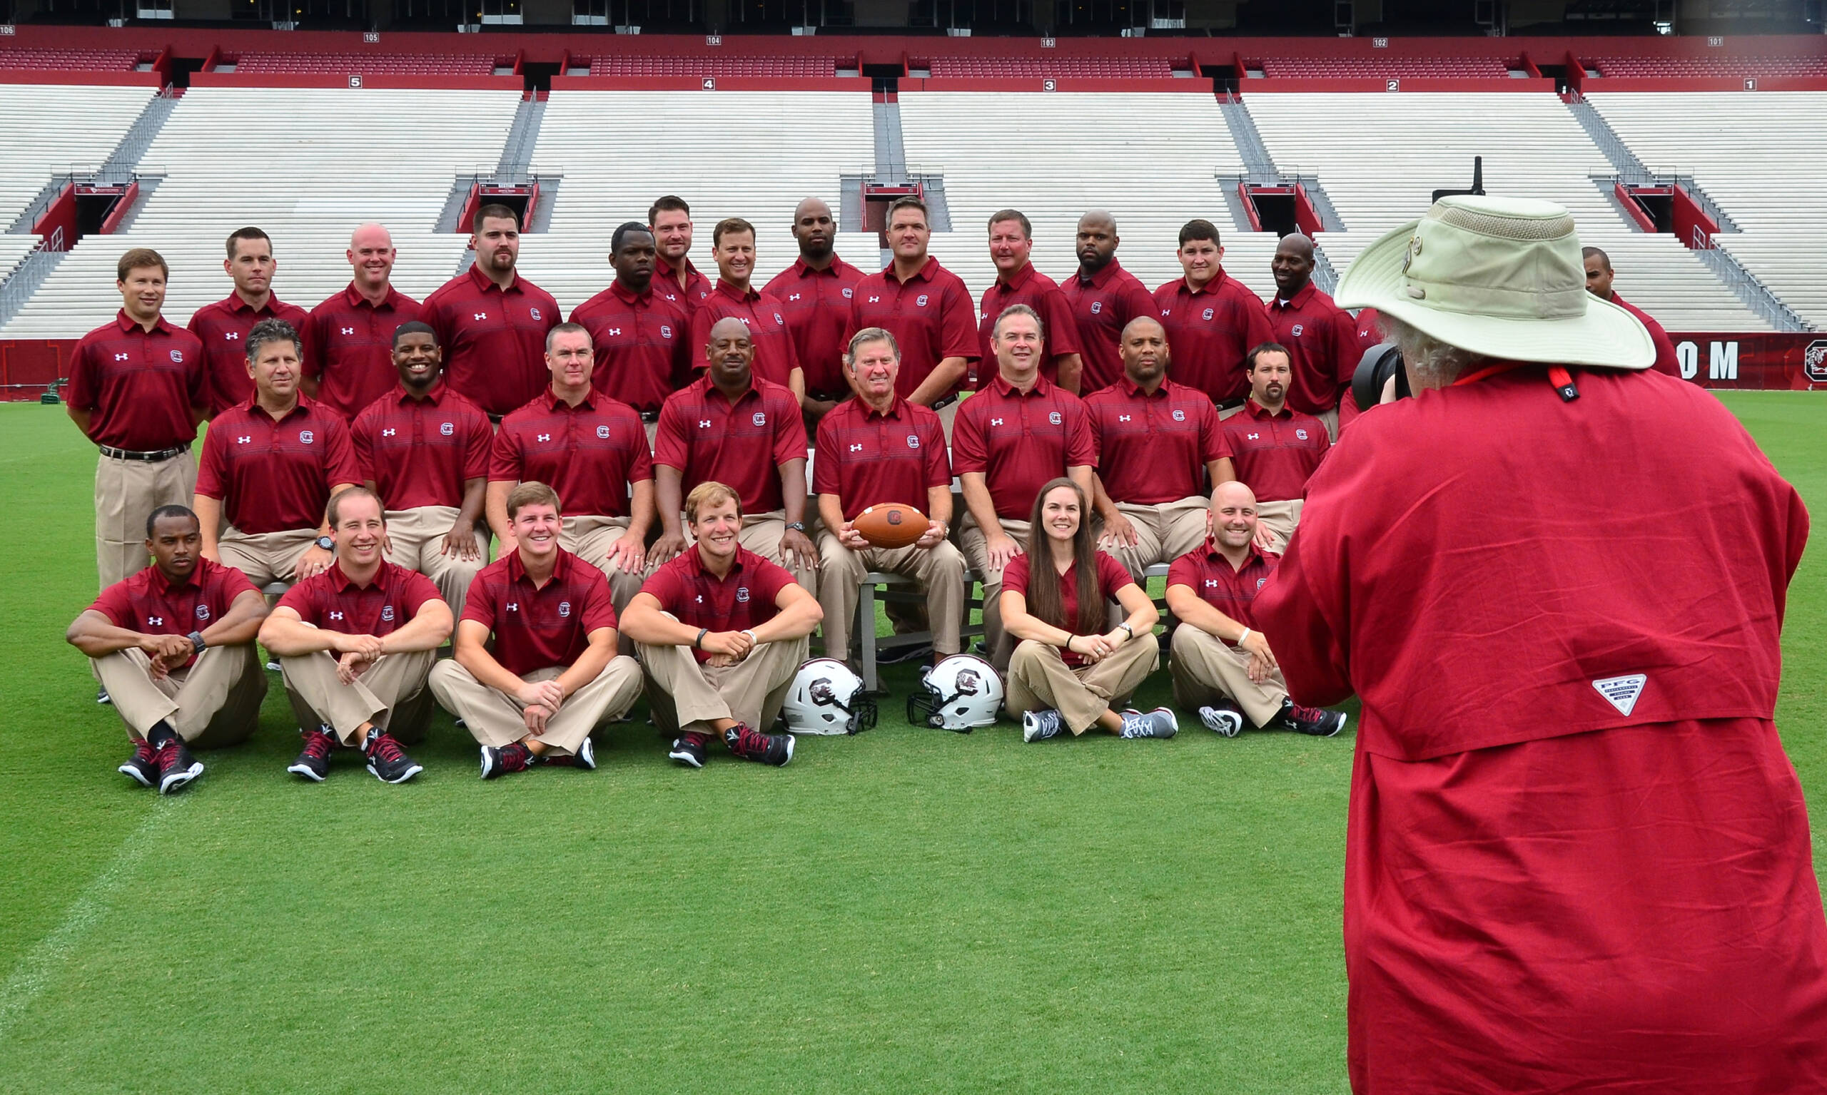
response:
<path id="1" fill-rule="evenodd" d="M 303 325 L 305 394 L 343 422 L 393 391 L 393 332 L 418 319 L 418 301 L 393 288 L 393 235 L 380 224 L 362 224 L 349 235 L 354 277 L 311 310 Z"/>

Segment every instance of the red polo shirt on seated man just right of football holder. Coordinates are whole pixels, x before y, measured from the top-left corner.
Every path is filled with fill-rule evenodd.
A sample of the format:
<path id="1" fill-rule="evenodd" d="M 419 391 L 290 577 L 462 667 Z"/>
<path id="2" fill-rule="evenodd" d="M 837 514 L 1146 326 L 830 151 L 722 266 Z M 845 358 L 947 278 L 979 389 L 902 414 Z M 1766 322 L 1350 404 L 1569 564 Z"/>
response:
<path id="1" fill-rule="evenodd" d="M 952 422 L 952 471 L 983 473 L 996 516 L 1027 520 L 1047 480 L 1096 465 L 1085 403 L 1045 376 L 1023 394 L 998 374 Z"/>

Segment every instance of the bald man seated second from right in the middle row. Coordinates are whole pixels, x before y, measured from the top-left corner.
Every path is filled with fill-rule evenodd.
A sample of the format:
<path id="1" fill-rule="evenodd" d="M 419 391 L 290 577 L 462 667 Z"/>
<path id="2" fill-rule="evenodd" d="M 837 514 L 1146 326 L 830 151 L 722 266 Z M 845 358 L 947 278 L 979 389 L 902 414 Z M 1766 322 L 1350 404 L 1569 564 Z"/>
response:
<path id="1" fill-rule="evenodd" d="M 1124 327 L 1124 378 L 1085 396 L 1098 474 L 1098 546 L 1136 582 L 1206 538 L 1213 484 L 1237 478 L 1219 411 L 1199 389 L 1167 380 L 1167 332 L 1140 316 Z"/>

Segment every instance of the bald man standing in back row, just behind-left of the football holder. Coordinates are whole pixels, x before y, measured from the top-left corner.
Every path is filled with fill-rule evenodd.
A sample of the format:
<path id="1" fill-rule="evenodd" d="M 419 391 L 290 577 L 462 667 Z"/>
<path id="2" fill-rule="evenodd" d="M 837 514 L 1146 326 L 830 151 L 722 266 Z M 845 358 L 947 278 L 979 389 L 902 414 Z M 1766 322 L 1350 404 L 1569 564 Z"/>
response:
<path id="1" fill-rule="evenodd" d="M 793 208 L 793 239 L 800 245 L 800 257 L 762 292 L 780 301 L 787 316 L 787 334 L 806 374 L 806 429 L 813 431 L 820 418 L 850 398 L 844 332 L 862 270 L 837 257 L 837 219 L 820 197 L 802 199 Z"/>

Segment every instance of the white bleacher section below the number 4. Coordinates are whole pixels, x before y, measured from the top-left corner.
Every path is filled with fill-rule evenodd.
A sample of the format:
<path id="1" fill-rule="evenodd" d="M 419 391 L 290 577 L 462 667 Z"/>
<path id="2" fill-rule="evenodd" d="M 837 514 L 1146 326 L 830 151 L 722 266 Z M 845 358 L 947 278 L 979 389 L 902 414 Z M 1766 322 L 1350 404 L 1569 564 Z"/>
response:
<path id="1" fill-rule="evenodd" d="M 533 166 L 565 173 L 552 224 L 521 245 L 521 272 L 566 314 L 614 279 L 608 241 L 645 221 L 663 193 L 691 203 L 692 263 L 716 277 L 711 230 L 755 224 L 755 285 L 798 257 L 793 206 L 839 208 L 839 175 L 875 159 L 870 97 L 857 91 L 554 91 Z M 881 268 L 875 235 L 840 235 L 839 254 Z"/>

